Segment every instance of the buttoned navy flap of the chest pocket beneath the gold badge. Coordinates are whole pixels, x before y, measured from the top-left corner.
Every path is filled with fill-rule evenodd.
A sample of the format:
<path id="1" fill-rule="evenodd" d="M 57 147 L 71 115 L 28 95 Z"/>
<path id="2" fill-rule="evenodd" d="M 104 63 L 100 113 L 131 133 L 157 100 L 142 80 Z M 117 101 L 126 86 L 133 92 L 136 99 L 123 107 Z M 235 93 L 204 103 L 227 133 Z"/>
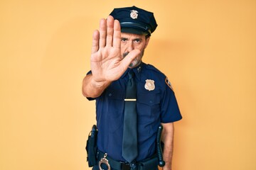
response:
<path id="1" fill-rule="evenodd" d="M 160 103 L 160 94 L 139 94 L 139 103 L 154 106 Z"/>

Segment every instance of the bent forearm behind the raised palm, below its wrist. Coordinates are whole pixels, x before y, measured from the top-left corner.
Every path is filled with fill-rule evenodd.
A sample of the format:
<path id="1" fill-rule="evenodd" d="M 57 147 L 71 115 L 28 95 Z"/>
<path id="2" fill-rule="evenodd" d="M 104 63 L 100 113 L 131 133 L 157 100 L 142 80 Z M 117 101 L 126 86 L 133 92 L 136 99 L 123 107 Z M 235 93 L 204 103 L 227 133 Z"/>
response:
<path id="1" fill-rule="evenodd" d="M 92 74 L 88 74 L 82 80 L 82 95 L 85 97 L 96 98 L 110 85 L 110 81 L 97 82 L 93 79 Z"/>

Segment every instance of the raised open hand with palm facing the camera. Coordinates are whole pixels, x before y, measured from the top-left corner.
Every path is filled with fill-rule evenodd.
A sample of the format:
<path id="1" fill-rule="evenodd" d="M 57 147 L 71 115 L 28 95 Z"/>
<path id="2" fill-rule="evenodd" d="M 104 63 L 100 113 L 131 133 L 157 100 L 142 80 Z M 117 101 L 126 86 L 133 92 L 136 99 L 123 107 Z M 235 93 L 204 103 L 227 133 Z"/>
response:
<path id="1" fill-rule="evenodd" d="M 119 79 L 129 64 L 139 55 L 132 50 L 124 59 L 121 54 L 121 28 L 112 16 L 100 20 L 100 29 L 92 36 L 91 70 L 92 79 L 97 84 Z"/>

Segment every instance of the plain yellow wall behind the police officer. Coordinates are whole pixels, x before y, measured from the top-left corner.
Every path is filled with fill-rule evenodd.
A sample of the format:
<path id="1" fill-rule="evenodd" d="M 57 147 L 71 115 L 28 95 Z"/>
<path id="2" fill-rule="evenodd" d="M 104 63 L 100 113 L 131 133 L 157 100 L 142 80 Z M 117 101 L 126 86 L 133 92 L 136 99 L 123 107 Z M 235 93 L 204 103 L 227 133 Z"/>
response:
<path id="1" fill-rule="evenodd" d="M 81 94 L 92 31 L 114 7 L 154 11 L 144 62 L 171 80 L 174 170 L 256 169 L 256 1 L 0 2 L 0 169 L 89 169 Z"/>

